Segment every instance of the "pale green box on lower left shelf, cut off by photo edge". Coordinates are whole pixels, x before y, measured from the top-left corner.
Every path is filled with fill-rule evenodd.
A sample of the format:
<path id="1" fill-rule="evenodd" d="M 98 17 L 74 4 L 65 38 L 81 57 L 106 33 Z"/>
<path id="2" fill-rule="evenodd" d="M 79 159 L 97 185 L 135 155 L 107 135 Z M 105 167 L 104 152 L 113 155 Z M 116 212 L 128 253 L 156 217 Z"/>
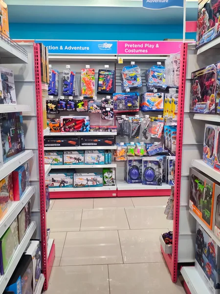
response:
<path id="1" fill-rule="evenodd" d="M 4 274 L 19 245 L 18 219 L 16 218 L 0 238 L 0 271 Z"/>

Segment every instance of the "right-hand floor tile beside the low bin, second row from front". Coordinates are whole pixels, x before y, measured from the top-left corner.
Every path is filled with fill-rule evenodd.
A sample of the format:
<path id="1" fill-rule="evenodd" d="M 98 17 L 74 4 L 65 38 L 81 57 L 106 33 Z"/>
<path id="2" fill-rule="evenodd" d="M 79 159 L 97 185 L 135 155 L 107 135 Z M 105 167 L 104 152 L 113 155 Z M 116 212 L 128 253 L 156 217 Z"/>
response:
<path id="1" fill-rule="evenodd" d="M 163 262 L 159 236 L 166 229 L 119 231 L 124 263 Z"/>

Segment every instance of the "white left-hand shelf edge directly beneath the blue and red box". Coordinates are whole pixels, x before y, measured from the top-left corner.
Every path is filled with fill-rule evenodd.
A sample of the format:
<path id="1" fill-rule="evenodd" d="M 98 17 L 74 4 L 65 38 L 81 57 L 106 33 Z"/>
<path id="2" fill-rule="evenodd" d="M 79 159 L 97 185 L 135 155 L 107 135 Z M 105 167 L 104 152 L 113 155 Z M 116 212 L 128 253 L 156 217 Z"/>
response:
<path id="1" fill-rule="evenodd" d="M 11 223 L 16 219 L 16 217 L 21 212 L 26 203 L 30 200 L 34 192 L 34 187 L 28 187 L 22 199 L 20 201 L 14 201 L 12 203 L 11 207 L 9 208 L 3 219 L 0 221 L 0 237 L 4 234 Z"/>

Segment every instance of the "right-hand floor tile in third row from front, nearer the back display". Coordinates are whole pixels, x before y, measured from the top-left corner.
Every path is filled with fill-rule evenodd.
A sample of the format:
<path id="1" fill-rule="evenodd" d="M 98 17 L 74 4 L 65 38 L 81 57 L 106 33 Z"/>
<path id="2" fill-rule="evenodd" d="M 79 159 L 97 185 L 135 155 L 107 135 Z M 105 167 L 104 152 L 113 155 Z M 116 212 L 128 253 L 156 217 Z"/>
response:
<path id="1" fill-rule="evenodd" d="M 172 226 L 164 207 L 125 208 L 131 229 L 162 229 Z"/>

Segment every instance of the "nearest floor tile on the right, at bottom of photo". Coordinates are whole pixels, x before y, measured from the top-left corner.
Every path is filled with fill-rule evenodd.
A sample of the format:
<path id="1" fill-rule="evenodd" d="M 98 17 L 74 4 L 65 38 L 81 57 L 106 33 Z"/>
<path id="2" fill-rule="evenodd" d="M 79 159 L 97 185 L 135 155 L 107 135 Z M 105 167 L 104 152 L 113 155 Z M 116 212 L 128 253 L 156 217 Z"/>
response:
<path id="1" fill-rule="evenodd" d="M 109 265 L 110 294 L 184 294 L 164 263 Z"/>

